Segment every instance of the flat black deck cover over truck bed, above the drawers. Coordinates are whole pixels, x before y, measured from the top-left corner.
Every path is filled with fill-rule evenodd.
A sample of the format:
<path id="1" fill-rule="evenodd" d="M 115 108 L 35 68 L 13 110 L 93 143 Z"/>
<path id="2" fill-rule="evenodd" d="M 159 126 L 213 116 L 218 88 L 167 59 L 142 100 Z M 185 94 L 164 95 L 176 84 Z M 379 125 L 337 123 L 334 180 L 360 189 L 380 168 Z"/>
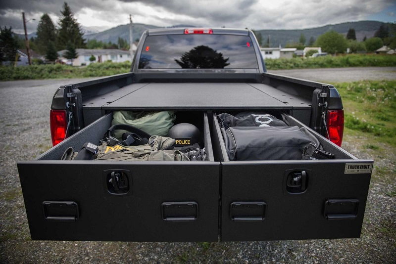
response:
<path id="1" fill-rule="evenodd" d="M 140 83 L 84 101 L 83 110 L 293 110 L 310 102 L 265 84 Z"/>

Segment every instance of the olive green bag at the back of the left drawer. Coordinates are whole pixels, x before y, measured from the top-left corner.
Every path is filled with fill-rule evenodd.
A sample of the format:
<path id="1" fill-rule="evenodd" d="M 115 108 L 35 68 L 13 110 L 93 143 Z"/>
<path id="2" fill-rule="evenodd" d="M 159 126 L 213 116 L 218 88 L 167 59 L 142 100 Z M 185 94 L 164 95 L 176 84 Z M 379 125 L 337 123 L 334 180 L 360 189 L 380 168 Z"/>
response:
<path id="1" fill-rule="evenodd" d="M 133 112 L 114 111 L 111 125 L 126 124 L 143 130 L 151 135 L 168 135 L 176 119 L 175 111 Z M 120 139 L 125 131 L 117 130 L 115 137 Z"/>

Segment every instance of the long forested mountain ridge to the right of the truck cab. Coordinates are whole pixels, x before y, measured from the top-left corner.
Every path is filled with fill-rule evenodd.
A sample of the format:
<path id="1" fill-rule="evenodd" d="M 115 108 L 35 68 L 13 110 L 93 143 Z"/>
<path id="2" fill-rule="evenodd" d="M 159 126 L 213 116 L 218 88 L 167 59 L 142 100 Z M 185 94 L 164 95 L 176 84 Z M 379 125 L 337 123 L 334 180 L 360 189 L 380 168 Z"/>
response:
<path id="1" fill-rule="evenodd" d="M 362 41 L 364 36 L 367 38 L 374 37 L 374 33 L 378 30 L 381 24 L 383 24 L 383 22 L 363 20 L 341 24 L 329 24 L 318 28 L 292 30 L 261 29 L 257 30 L 257 32 L 261 33 L 262 43 L 266 43 L 268 36 L 270 36 L 271 47 L 277 47 L 279 45 L 284 47 L 288 43 L 298 42 L 301 33 L 304 34 L 306 42 L 308 43 L 311 37 L 316 40 L 320 35 L 329 30 L 335 30 L 338 33 L 346 36 L 349 28 L 354 28 L 356 32 L 356 39 L 358 41 Z"/>

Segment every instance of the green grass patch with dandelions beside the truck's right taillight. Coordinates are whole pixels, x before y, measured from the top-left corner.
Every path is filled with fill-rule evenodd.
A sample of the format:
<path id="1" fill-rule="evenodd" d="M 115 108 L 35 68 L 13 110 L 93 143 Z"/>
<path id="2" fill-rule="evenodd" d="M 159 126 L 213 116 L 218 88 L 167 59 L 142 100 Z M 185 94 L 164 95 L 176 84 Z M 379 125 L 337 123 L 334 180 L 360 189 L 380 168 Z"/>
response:
<path id="1" fill-rule="evenodd" d="M 345 127 L 396 146 L 396 81 L 334 84 L 343 99 Z M 364 146 L 377 150 L 370 143 Z"/>

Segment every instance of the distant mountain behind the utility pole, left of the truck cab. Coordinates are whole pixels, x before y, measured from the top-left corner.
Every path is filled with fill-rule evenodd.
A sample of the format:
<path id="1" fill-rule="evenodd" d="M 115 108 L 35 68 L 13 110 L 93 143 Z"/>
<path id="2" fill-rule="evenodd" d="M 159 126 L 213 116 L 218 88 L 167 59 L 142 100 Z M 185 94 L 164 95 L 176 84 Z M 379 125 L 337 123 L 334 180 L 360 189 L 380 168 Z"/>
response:
<path id="1" fill-rule="evenodd" d="M 135 41 L 136 39 L 140 39 L 142 33 L 145 30 L 153 29 L 153 28 L 159 28 L 159 27 L 146 25 L 146 24 L 139 24 L 139 23 L 133 24 L 132 26 L 133 40 Z M 129 24 L 119 25 L 115 28 L 111 28 L 95 34 L 84 35 L 84 38 L 86 38 L 87 40 L 95 39 L 97 41 L 102 41 L 106 43 L 109 41 L 111 41 L 112 43 L 117 43 L 119 37 L 126 41 L 129 41 Z"/>

